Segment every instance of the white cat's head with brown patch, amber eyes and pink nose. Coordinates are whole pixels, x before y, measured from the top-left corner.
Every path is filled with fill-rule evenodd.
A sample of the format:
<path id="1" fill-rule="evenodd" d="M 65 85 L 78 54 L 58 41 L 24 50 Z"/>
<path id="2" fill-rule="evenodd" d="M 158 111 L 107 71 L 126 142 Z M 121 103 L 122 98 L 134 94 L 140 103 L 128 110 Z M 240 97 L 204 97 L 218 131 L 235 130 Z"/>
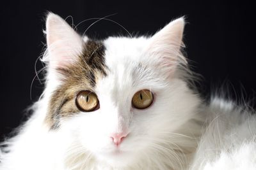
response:
<path id="1" fill-rule="evenodd" d="M 152 37 L 96 41 L 50 13 L 44 57 L 50 131 L 63 132 L 80 147 L 77 154 L 88 152 L 113 166 L 178 150 L 177 133 L 199 103 L 184 81 L 183 29 L 184 18 L 178 18 Z"/>

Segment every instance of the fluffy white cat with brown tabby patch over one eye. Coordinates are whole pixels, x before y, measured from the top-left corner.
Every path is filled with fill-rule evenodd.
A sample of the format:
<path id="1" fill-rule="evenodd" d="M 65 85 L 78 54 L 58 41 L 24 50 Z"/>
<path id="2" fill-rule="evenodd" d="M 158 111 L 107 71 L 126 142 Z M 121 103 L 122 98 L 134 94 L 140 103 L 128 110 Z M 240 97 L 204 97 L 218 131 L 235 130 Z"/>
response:
<path id="1" fill-rule="evenodd" d="M 253 111 L 200 97 L 184 25 L 97 40 L 49 13 L 45 90 L 0 169 L 256 169 Z"/>

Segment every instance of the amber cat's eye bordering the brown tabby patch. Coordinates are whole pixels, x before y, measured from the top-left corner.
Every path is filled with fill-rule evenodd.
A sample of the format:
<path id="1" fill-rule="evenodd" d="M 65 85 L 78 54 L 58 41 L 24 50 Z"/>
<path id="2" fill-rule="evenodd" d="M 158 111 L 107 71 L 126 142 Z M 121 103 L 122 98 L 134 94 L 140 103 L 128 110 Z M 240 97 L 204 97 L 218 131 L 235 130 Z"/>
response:
<path id="1" fill-rule="evenodd" d="M 95 93 L 83 90 L 76 96 L 76 106 L 81 111 L 94 111 L 99 108 L 99 99 Z"/>

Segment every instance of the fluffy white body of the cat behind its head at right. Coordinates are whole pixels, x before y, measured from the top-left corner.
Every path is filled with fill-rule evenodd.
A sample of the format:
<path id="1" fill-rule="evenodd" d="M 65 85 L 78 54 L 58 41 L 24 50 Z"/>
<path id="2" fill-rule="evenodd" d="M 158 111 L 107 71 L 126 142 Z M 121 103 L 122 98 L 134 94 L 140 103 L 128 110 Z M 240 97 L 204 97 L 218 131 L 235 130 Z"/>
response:
<path id="1" fill-rule="evenodd" d="M 191 170 L 256 169 L 256 117 L 245 106 L 212 99 Z"/>

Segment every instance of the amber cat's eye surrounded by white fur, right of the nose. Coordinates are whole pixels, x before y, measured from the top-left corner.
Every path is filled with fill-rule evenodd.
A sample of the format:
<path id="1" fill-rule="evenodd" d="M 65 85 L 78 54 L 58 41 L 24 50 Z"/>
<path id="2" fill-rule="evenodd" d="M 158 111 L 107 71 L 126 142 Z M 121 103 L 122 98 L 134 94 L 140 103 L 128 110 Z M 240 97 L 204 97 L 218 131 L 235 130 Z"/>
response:
<path id="1" fill-rule="evenodd" d="M 150 90 L 140 90 L 132 97 L 132 106 L 138 109 L 148 108 L 154 100 L 154 96 Z"/>

